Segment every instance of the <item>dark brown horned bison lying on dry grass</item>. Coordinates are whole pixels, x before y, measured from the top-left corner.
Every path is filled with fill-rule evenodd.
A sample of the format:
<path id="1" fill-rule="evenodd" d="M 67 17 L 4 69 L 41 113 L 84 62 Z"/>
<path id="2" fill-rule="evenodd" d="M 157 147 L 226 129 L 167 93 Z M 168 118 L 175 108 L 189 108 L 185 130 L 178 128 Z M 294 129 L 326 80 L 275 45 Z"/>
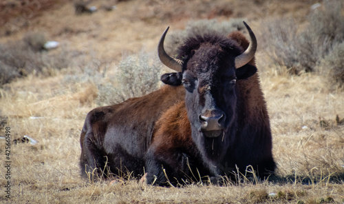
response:
<path id="1" fill-rule="evenodd" d="M 275 171 L 270 121 L 259 85 L 257 40 L 244 22 L 228 37 L 204 34 L 186 39 L 177 59 L 158 45 L 167 85 L 146 96 L 87 114 L 80 136 L 82 172 L 143 175 L 167 185 L 217 182 L 252 167 L 261 178 Z"/>

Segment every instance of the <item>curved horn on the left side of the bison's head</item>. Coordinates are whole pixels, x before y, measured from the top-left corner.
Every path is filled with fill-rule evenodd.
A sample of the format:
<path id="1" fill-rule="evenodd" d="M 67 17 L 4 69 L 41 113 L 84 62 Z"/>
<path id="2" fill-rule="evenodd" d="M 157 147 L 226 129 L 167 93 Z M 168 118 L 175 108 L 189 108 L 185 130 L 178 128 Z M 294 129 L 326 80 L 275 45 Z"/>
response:
<path id="1" fill-rule="evenodd" d="M 169 27 L 166 28 L 166 30 L 162 34 L 162 37 L 160 38 L 159 45 L 158 45 L 158 55 L 159 55 L 160 61 L 164 65 L 166 65 L 168 68 L 171 68 L 172 70 L 175 70 L 177 72 L 182 72 L 183 62 L 179 59 L 174 59 L 173 57 L 170 57 L 169 54 L 165 52 L 164 40 L 165 40 L 166 33 L 168 30 L 169 30 Z"/>

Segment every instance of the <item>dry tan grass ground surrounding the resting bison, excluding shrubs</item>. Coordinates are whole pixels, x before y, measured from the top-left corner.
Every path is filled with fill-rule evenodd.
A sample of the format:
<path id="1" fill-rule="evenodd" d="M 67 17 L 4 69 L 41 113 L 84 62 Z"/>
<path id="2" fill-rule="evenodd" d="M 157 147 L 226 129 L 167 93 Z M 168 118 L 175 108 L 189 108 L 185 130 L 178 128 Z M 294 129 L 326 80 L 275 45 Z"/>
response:
<path id="1" fill-rule="evenodd" d="M 130 175 L 111 184 L 89 182 L 80 178 L 78 167 L 85 116 L 100 102 L 107 103 L 101 101 L 100 94 L 105 93 L 101 88 L 118 86 L 114 76 L 128 54 L 154 53 L 166 26 L 182 30 L 196 19 L 244 18 L 259 43 L 266 22 L 293 17 L 301 30 L 307 26 L 311 6 L 323 1 L 97 0 L 89 3 L 99 8 L 93 14 L 75 14 L 74 4 L 63 0 L 39 6 L 48 1 L 27 1 L 38 2 L 30 8 L 34 15 L 23 19 L 14 12 L 12 20 L 0 25 L 0 48 L 31 32 L 61 43 L 56 50 L 41 53 L 45 66 L 40 71 L 0 87 L 0 136 L 10 127 L 12 141 L 6 155 L 9 145 L 0 139 L 0 203 L 344 203 L 343 87 L 333 85 L 324 72 L 290 74 L 288 67 L 268 57 L 266 42 L 259 44 L 257 68 L 277 162 L 273 178 L 256 182 L 244 178 L 222 187 L 204 183 L 153 187 Z M 114 10 L 105 10 L 113 5 Z M 49 57 L 70 63 L 54 69 Z M 14 143 L 23 136 L 38 143 Z M 8 181 L 10 198 L 6 198 Z"/>

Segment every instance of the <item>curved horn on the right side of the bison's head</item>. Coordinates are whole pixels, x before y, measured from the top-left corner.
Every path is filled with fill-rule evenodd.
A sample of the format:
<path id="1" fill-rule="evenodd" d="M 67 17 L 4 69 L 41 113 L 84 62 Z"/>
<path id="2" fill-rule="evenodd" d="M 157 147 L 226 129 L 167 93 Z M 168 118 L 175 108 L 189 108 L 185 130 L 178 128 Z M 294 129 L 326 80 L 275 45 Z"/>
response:
<path id="1" fill-rule="evenodd" d="M 242 66 L 246 65 L 253 57 L 255 57 L 255 52 L 257 50 L 257 39 L 255 34 L 252 32 L 251 28 L 243 21 L 244 25 L 248 30 L 248 34 L 250 34 L 250 45 L 248 48 L 240 54 L 239 56 L 235 57 L 235 68 L 241 68 Z"/>

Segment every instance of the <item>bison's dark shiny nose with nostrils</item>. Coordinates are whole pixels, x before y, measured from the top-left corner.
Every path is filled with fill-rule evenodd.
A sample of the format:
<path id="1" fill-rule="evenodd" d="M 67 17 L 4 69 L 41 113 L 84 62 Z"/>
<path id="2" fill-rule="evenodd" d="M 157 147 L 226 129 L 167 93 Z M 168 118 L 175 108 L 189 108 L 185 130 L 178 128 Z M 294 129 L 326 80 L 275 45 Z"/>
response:
<path id="1" fill-rule="evenodd" d="M 222 130 L 224 129 L 222 123 L 225 120 L 226 115 L 219 110 L 206 111 L 204 114 L 200 114 L 199 120 L 201 123 L 202 131 Z"/>

